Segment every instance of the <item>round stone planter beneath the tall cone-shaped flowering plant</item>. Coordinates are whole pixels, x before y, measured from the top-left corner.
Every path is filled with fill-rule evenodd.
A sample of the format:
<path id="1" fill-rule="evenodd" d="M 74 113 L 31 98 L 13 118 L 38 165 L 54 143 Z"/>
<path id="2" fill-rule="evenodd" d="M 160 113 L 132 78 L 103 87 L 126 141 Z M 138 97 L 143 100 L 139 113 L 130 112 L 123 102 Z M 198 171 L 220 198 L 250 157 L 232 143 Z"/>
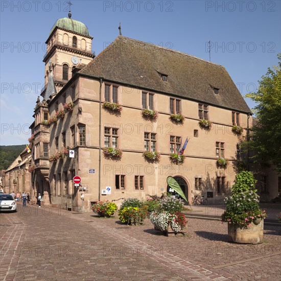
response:
<path id="1" fill-rule="evenodd" d="M 230 242 L 260 244 L 264 241 L 264 220 L 262 219 L 260 223 L 251 223 L 247 228 L 240 228 L 237 224 L 228 224 L 227 226 Z"/>

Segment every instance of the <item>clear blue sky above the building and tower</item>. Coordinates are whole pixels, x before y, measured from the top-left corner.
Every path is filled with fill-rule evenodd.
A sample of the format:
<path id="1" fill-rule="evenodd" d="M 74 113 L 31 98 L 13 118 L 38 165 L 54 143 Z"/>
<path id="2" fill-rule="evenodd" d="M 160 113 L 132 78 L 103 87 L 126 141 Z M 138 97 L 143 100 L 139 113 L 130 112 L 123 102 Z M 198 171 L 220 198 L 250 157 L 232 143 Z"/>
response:
<path id="1" fill-rule="evenodd" d="M 244 96 L 280 52 L 280 1 L 72 1 L 99 54 L 122 34 L 223 65 Z M 1 1 L 1 145 L 26 144 L 44 83 L 45 40 L 66 1 Z M 246 99 L 250 108 L 252 101 Z"/>

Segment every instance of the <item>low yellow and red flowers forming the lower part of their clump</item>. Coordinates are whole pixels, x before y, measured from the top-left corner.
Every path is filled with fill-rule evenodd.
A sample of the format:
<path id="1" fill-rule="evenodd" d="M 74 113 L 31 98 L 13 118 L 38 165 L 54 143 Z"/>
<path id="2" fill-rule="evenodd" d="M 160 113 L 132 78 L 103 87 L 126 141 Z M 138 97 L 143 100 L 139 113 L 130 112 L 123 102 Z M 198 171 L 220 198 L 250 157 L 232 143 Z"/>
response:
<path id="1" fill-rule="evenodd" d="M 119 219 L 123 223 L 127 223 L 128 225 L 139 225 L 143 224 L 146 215 L 147 215 L 147 208 L 145 206 L 142 207 L 124 207 L 120 209 Z"/>

